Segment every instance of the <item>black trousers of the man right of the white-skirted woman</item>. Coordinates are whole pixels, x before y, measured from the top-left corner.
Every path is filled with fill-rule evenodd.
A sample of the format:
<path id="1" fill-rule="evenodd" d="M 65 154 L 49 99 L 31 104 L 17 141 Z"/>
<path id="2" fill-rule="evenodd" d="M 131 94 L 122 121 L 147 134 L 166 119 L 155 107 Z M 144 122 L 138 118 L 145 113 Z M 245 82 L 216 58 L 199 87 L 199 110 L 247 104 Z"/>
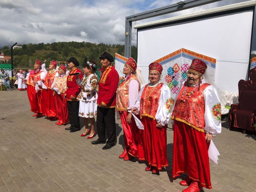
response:
<path id="1" fill-rule="evenodd" d="M 97 131 L 100 141 L 106 141 L 107 143 L 114 144 L 116 141 L 116 118 L 115 108 L 102 108 L 97 106 Z"/>

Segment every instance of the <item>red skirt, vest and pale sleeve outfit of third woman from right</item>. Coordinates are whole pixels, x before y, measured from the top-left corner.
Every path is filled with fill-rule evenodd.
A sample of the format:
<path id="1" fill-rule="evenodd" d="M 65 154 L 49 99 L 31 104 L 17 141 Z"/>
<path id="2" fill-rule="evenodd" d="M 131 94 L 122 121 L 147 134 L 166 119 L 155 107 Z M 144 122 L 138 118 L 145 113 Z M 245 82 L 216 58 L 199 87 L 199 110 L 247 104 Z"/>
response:
<path id="1" fill-rule="evenodd" d="M 137 139 L 138 128 L 132 117 L 131 123 L 127 123 L 128 109 L 132 108 L 138 99 L 140 84 L 135 75 L 127 76 L 123 83 L 117 89 L 116 110 L 119 111 L 121 123 L 124 132 L 124 147 L 127 153 L 137 156 Z"/>

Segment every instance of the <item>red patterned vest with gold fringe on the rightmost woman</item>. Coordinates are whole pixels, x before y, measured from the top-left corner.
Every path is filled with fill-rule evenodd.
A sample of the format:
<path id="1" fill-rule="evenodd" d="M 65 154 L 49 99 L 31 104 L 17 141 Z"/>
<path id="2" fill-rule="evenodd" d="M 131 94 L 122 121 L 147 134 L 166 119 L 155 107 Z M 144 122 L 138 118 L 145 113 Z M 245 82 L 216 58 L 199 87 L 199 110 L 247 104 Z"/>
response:
<path id="1" fill-rule="evenodd" d="M 209 85 L 210 84 L 208 83 L 200 85 L 199 91 L 196 90 L 192 97 L 188 98 L 186 102 L 182 102 L 181 95 L 185 89 L 185 85 L 183 85 L 180 93 L 178 94 L 171 118 L 186 123 L 189 126 L 204 132 L 205 123 L 203 92 Z M 194 87 L 187 87 L 186 91 L 191 92 L 193 89 Z M 187 97 L 188 96 L 185 98 Z"/>

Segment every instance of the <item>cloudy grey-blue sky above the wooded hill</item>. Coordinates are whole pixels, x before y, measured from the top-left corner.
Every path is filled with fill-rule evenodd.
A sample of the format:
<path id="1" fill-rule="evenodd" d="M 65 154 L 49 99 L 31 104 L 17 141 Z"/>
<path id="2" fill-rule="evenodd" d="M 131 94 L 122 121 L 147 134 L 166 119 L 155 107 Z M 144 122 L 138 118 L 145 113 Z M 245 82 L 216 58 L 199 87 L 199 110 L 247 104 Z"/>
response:
<path id="1" fill-rule="evenodd" d="M 125 17 L 179 2 L 180 0 L 0 0 L 0 47 L 15 42 L 52 43 L 86 41 L 124 44 Z M 168 18 L 245 0 L 222 0 L 157 18 Z M 134 25 L 135 22 L 133 22 Z M 132 30 L 136 45 L 137 31 Z"/>

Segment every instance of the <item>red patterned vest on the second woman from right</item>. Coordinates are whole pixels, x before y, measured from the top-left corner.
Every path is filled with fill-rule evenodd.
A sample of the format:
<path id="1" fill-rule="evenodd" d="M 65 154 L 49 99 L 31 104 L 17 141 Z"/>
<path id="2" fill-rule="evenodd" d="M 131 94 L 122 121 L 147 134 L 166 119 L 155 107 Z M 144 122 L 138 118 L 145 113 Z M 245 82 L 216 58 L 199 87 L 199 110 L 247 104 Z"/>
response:
<path id="1" fill-rule="evenodd" d="M 148 85 L 144 87 L 140 97 L 140 118 L 147 116 L 155 119 L 162 86 L 163 83 L 159 83 L 155 87 L 149 87 Z"/>

